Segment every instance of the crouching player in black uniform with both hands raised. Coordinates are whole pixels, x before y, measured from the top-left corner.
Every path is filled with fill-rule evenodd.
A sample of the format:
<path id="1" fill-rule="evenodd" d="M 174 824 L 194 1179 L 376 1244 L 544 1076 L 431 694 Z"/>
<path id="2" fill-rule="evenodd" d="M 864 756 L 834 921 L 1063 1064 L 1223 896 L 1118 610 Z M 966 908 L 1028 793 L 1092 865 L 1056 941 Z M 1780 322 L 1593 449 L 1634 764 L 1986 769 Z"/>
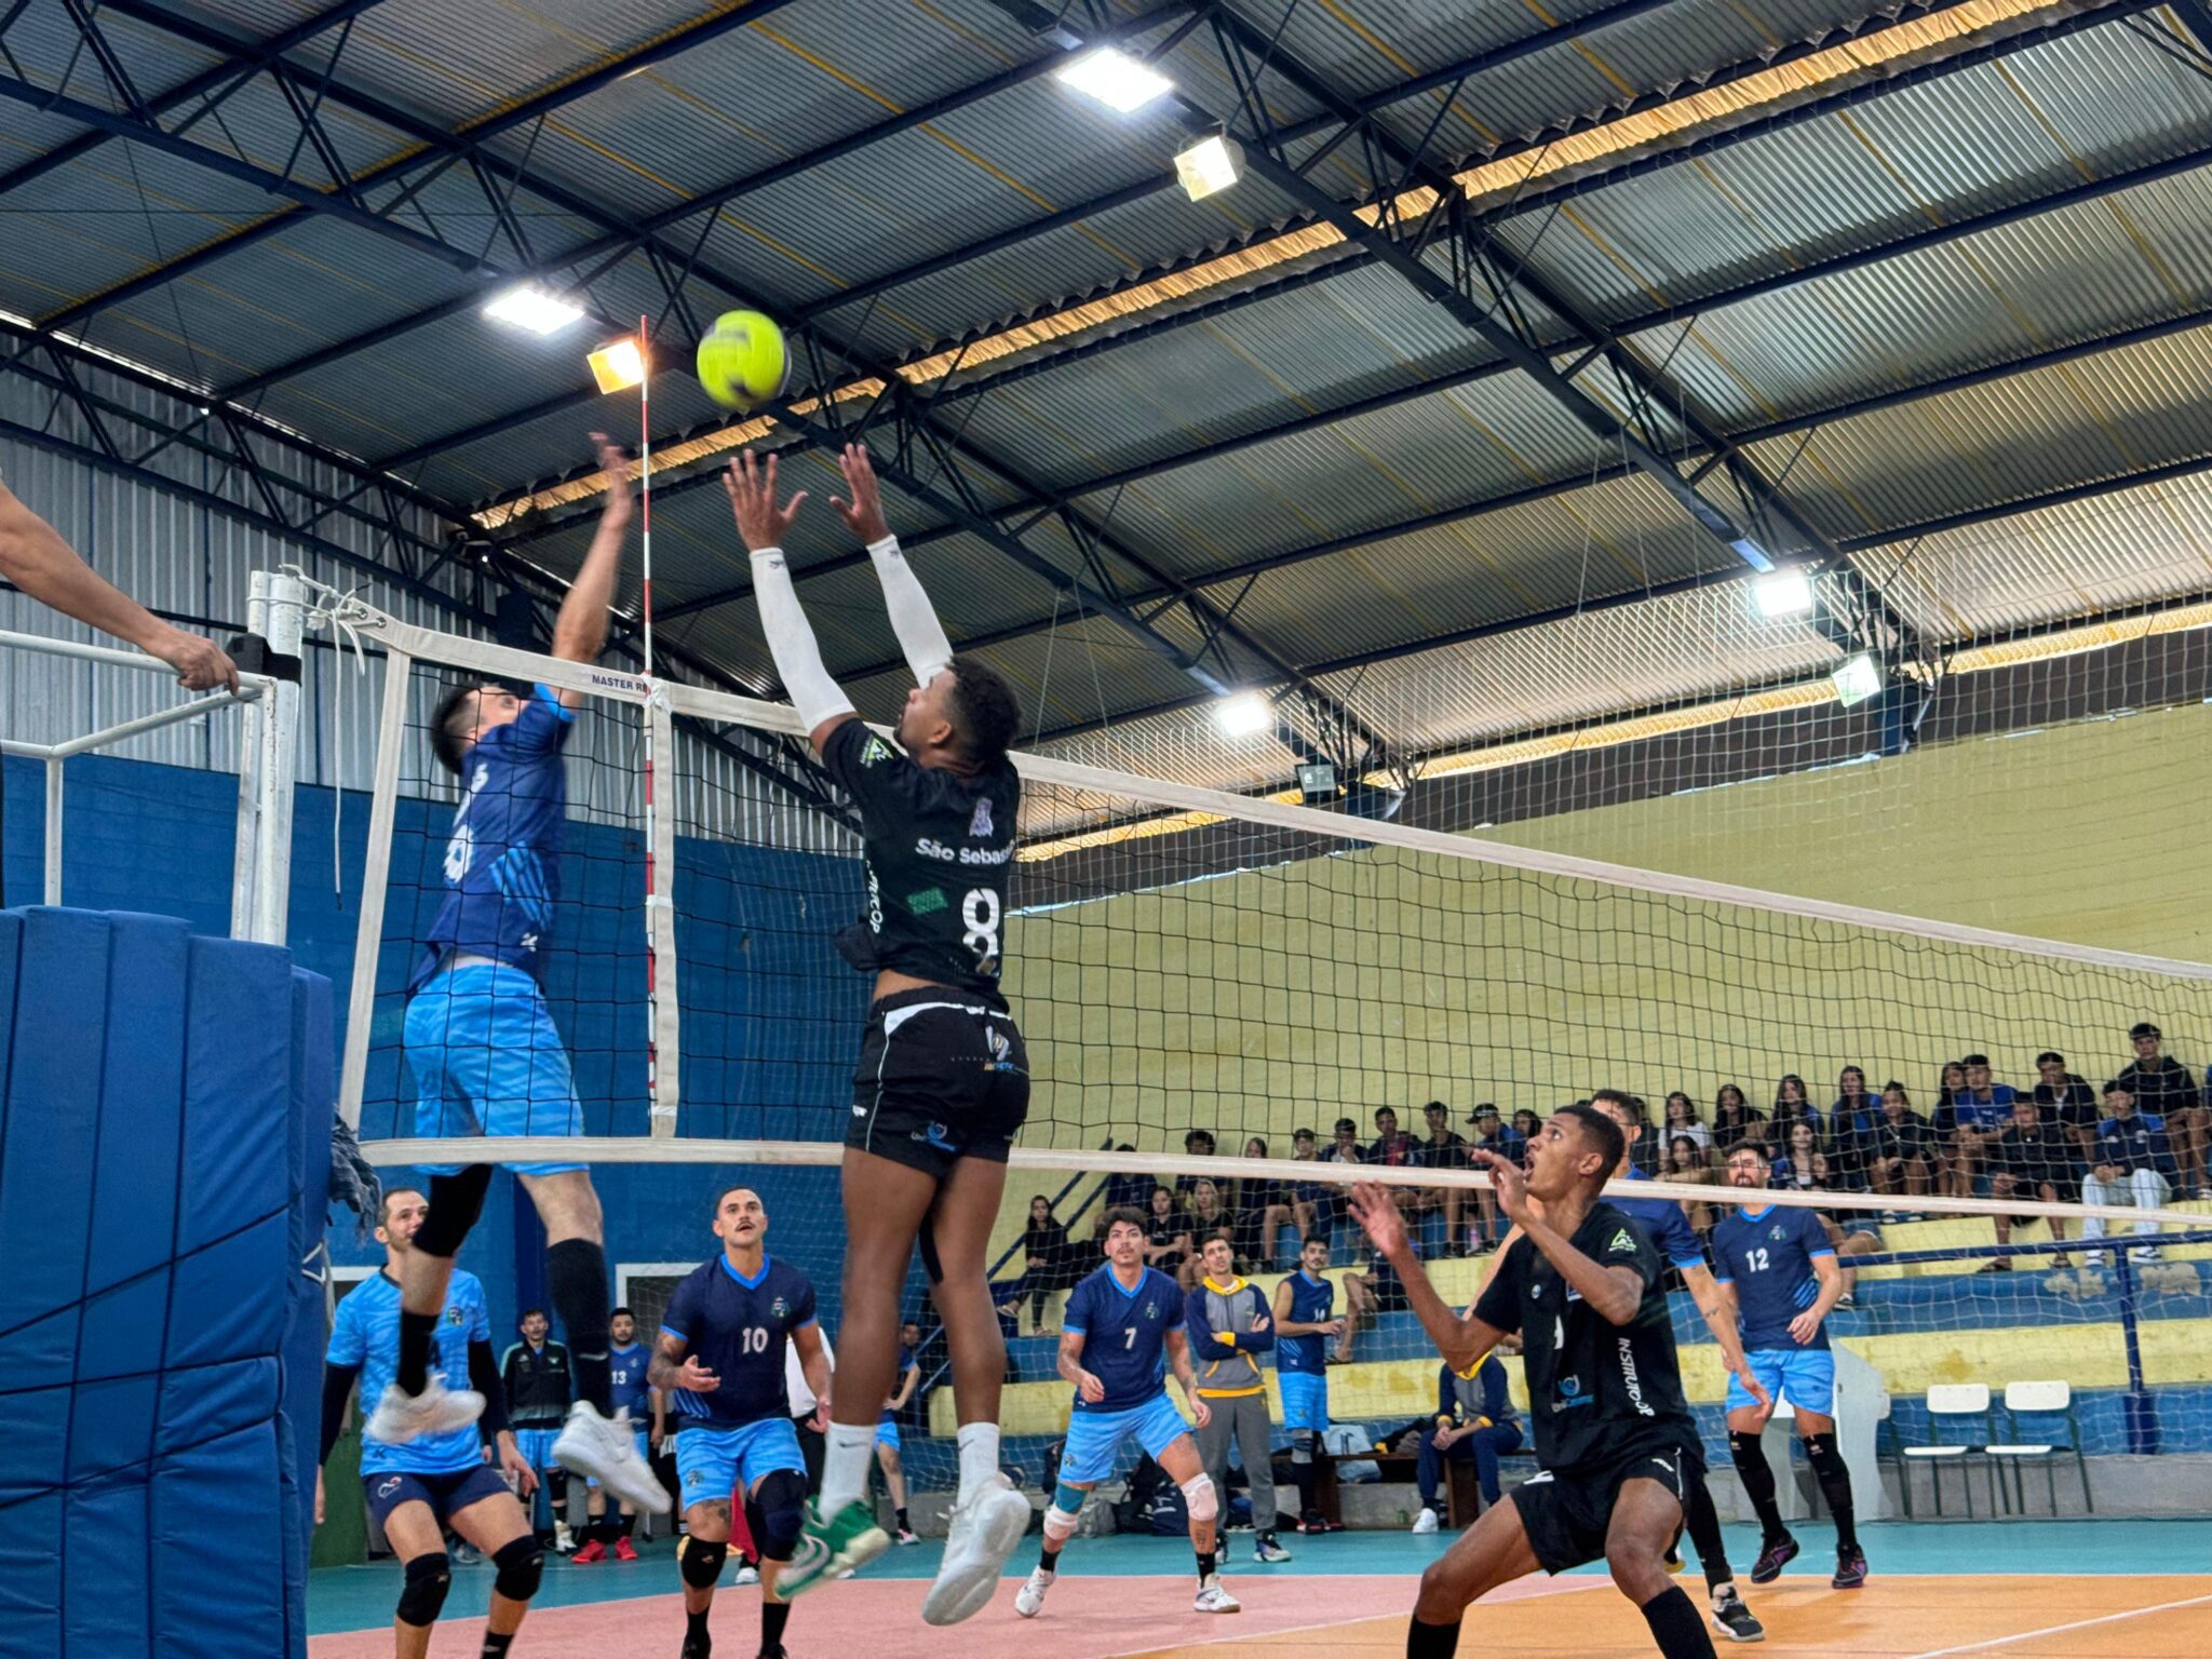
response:
<path id="1" fill-rule="evenodd" d="M 1422 1272 L 1389 1188 L 1354 1188 L 1354 1214 L 1398 1267 L 1422 1329 L 1453 1369 L 1473 1371 L 1500 1338 L 1522 1334 L 1542 1467 L 1420 1575 L 1407 1659 L 1451 1655 L 1467 1606 L 1500 1584 L 1540 1566 L 1564 1573 L 1599 1555 L 1621 1595 L 1641 1608 L 1661 1655 L 1712 1659 L 1697 1604 L 1661 1559 L 1705 1460 L 1674 1365 L 1659 1252 L 1599 1199 L 1621 1150 L 1610 1117 L 1562 1106 L 1528 1141 L 1526 1175 L 1493 1152 L 1475 1155 L 1520 1237 L 1500 1252 L 1464 1316 Z"/>

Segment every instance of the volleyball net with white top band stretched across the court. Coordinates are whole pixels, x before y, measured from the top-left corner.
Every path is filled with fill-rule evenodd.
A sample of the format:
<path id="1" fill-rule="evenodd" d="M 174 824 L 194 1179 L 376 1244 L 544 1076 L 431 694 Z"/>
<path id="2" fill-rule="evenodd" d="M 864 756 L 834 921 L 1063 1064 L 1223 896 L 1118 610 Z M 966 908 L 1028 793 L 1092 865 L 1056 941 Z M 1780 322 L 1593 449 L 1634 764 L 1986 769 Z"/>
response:
<path id="1" fill-rule="evenodd" d="M 712 1181 L 754 1179 L 779 1254 L 834 1285 L 843 1225 L 827 1170 L 867 1004 L 834 940 L 863 911 L 865 878 L 854 821 L 807 770 L 794 712 L 372 611 L 354 626 L 383 653 L 343 1071 L 343 1110 L 372 1157 L 575 1152 L 538 1139 L 434 1150 L 416 1139 L 425 1091 L 407 1060 L 409 1024 L 438 995 L 409 998 L 409 984 L 445 902 L 456 812 L 478 787 L 473 768 L 438 763 L 434 710 L 465 684 L 551 686 L 575 701 L 557 896 L 526 869 L 500 894 L 542 922 L 549 1042 L 573 1071 L 586 1157 L 641 1166 L 619 1186 L 637 1203 L 697 1210 L 692 1259 L 714 1248 Z M 1338 1279 L 1371 1279 L 1343 1188 L 1374 1177 L 1405 1194 L 1444 1294 L 1471 1301 L 1504 1225 L 1467 1144 L 1511 1148 L 1515 1119 L 1526 1130 L 1619 1088 L 1648 1119 L 1635 1157 L 1661 1177 L 1639 1192 L 1710 1225 L 1734 1203 L 1714 1155 L 1759 1139 L 1776 1159 L 1759 1201 L 1818 1208 L 1856 1239 L 1834 1329 L 1907 1431 L 1924 1427 L 1931 1387 L 1982 1380 L 2002 1411 L 2006 1383 L 2053 1374 L 2086 1402 L 2093 1451 L 2212 1449 L 2212 1208 L 2190 1197 L 2203 1075 L 2185 1068 L 2188 1104 L 2168 1073 L 2168 1093 L 2143 1084 L 2126 1104 L 2104 1088 L 2143 1020 L 2177 1053 L 2212 1040 L 2205 964 L 1425 827 L 1449 814 L 1394 816 L 1398 801 L 1374 785 L 1323 807 L 1018 759 L 1004 989 L 1033 1097 L 995 1245 L 1018 1444 L 1042 1449 L 1066 1418 L 1053 1338 L 1037 1332 L 1071 1274 L 1099 1261 L 1108 1203 L 1148 1212 L 1170 1270 L 1179 1239 L 1197 1248 L 1225 1230 L 1241 1267 L 1272 1283 L 1312 1230 Z M 2031 1079 L 2048 1055 L 2062 1060 L 2039 1102 Z M 1969 1057 L 1993 1077 L 1947 1073 Z M 1838 1099 L 1845 1068 L 1865 1095 Z M 1889 1082 L 1907 1095 L 1896 1113 Z M 557 1091 L 515 1088 L 535 1128 L 564 1126 Z M 2048 1130 L 2033 1146 L 2004 1139 L 2011 1091 L 2028 1102 L 2022 1128 Z M 531 1117 L 540 1108 L 562 1121 Z M 2099 1164 L 2137 1135 L 2101 1139 L 2130 1115 L 2152 1119 L 2141 1161 Z M 1035 1199 L 1064 1243 L 1048 1230 L 1024 1243 Z M 646 1303 L 672 1252 L 624 1228 L 611 1201 L 617 1279 Z M 2110 1237 L 2084 1241 L 2097 1230 Z M 1352 1365 L 1332 1371 L 1332 1411 L 1378 1431 L 1427 1416 L 1429 1340 L 1387 1285 L 1343 1287 L 1338 1305 L 1354 1296 L 1371 1307 Z M 933 1329 L 920 1285 L 914 1314 Z M 1717 1349 L 1686 1294 L 1677 1325 L 1719 1436 Z M 947 1411 L 925 1394 L 911 1427 Z"/>

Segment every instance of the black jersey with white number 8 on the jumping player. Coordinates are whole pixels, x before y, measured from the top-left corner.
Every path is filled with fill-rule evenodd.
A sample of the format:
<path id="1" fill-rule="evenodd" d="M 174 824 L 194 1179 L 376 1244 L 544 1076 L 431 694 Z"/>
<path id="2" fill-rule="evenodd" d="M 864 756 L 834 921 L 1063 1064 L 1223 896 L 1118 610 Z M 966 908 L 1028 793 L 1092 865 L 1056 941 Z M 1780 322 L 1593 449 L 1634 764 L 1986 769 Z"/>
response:
<path id="1" fill-rule="evenodd" d="M 867 909 L 838 940 L 847 960 L 995 995 L 1022 807 L 1013 763 L 967 776 L 916 765 L 860 721 L 830 732 L 823 763 L 860 807 Z"/>

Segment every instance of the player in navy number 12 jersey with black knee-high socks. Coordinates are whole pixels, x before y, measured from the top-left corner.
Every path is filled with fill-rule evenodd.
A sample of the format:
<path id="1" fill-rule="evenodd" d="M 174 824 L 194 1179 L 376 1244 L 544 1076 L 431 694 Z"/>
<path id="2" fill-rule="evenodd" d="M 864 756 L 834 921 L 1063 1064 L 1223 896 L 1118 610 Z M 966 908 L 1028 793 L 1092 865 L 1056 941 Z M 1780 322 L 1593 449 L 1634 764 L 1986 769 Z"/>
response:
<path id="1" fill-rule="evenodd" d="M 1836 1248 L 1812 1210 L 1759 1199 L 1767 1183 L 1767 1150 L 1759 1141 L 1728 1148 L 1728 1183 L 1743 1197 L 1712 1230 L 1714 1279 L 1741 1310 L 1743 1352 L 1770 1396 L 1759 1400 L 1739 1378 L 1728 1380 L 1728 1453 L 1763 1533 L 1752 1584 L 1778 1577 L 1798 1553 L 1774 1502 L 1774 1469 L 1759 1444 L 1774 1400 L 1787 1394 L 1805 1462 L 1836 1517 L 1836 1577 L 1829 1584 L 1856 1590 L 1867 1582 L 1867 1555 L 1851 1524 L 1851 1471 L 1836 1451 L 1836 1354 L 1825 1325 L 1843 1294 Z"/>

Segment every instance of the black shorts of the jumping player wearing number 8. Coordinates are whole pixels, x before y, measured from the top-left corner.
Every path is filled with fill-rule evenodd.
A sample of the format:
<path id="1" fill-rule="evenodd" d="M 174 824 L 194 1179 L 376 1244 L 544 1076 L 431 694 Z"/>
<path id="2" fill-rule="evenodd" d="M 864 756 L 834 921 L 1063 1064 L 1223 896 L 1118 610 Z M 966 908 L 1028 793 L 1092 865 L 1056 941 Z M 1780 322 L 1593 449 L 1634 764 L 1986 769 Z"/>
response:
<path id="1" fill-rule="evenodd" d="M 867 1011 L 845 1146 L 929 1175 L 1004 1164 L 1029 1117 L 1029 1051 L 1013 1015 L 951 989 L 900 991 Z"/>

